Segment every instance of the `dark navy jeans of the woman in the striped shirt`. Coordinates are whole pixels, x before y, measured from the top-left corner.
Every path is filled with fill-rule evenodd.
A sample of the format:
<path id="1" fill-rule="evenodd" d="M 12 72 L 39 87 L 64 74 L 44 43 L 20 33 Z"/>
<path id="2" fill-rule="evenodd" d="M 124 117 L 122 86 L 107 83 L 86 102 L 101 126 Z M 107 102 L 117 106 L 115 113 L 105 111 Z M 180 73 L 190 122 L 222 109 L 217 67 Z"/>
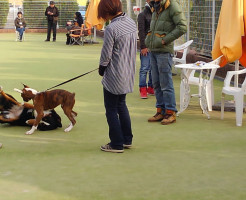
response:
<path id="1" fill-rule="evenodd" d="M 113 149 L 123 149 L 123 144 L 131 144 L 133 137 L 126 94 L 115 95 L 106 89 L 103 92 L 110 146 Z"/>

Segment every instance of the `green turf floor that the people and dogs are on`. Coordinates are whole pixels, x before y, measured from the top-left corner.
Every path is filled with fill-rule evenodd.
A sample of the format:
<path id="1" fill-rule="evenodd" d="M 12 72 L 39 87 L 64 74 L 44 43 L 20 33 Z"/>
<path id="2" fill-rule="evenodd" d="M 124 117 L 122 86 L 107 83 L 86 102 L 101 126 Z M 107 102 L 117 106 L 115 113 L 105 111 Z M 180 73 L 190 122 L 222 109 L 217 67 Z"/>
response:
<path id="1" fill-rule="evenodd" d="M 0 34 L 0 85 L 19 101 L 13 88 L 25 83 L 39 91 L 98 67 L 99 44 L 66 46 L 43 42 L 45 34 Z M 235 126 L 235 113 L 201 113 L 192 98 L 177 123 L 148 123 L 155 97 L 127 95 L 134 134 L 133 149 L 123 154 L 101 152 L 108 140 L 101 77 L 93 72 L 60 88 L 76 93 L 77 124 L 70 133 L 61 108 L 63 128 L 25 135 L 28 127 L 0 125 L 0 200 L 245 200 L 246 119 Z M 174 77 L 179 106 L 180 76 Z M 215 101 L 222 82 L 215 80 Z M 193 88 L 192 90 L 195 90 Z M 179 108 L 179 107 L 178 107 Z"/>

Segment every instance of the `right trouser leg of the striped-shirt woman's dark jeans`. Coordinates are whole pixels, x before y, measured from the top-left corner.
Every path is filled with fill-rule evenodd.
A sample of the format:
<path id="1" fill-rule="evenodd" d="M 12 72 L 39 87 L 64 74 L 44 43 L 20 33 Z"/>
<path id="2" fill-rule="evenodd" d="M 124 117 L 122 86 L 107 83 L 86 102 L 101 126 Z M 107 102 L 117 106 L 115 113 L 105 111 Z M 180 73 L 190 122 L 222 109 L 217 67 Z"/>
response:
<path id="1" fill-rule="evenodd" d="M 132 127 L 131 127 L 131 118 L 126 105 L 125 94 L 119 96 L 118 114 L 120 119 L 121 130 L 124 137 L 124 144 L 131 145 L 133 135 L 132 135 Z"/>

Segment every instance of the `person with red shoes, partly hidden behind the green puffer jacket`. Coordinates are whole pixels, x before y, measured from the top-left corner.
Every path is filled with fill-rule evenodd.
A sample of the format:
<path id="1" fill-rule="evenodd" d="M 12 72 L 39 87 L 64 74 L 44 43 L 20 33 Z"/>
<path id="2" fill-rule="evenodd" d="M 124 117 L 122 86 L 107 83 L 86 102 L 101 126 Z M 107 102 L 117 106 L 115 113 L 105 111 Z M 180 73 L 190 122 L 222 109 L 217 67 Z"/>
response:
<path id="1" fill-rule="evenodd" d="M 138 15 L 138 36 L 140 41 L 140 60 L 141 66 L 139 70 L 139 91 L 142 99 L 147 99 L 147 94 L 154 95 L 152 86 L 151 67 L 150 67 L 150 52 L 145 45 L 145 38 L 150 28 L 152 11 L 150 0 L 146 0 L 144 10 Z M 146 84 L 147 74 L 149 73 L 148 88 Z"/>

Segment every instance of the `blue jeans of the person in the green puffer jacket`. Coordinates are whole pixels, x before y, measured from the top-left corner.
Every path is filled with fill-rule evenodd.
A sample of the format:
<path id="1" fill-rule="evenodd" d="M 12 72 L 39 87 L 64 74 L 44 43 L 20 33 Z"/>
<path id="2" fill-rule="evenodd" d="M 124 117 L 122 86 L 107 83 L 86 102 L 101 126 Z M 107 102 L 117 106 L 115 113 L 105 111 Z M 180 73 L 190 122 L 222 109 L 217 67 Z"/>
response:
<path id="1" fill-rule="evenodd" d="M 172 54 L 151 52 L 150 63 L 156 108 L 162 108 L 163 114 L 166 110 L 177 112 L 172 80 Z"/>

